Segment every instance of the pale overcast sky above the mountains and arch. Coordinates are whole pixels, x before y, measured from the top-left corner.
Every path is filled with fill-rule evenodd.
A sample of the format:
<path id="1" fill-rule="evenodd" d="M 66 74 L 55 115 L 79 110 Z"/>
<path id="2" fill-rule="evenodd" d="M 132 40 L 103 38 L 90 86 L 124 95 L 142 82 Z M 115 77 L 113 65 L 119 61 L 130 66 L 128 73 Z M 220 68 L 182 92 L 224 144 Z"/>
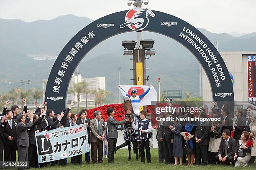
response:
<path id="1" fill-rule="evenodd" d="M 0 18 L 26 22 L 73 14 L 97 20 L 128 10 L 127 0 L 0 0 Z M 256 0 L 149 0 L 143 5 L 210 32 L 256 32 Z"/>

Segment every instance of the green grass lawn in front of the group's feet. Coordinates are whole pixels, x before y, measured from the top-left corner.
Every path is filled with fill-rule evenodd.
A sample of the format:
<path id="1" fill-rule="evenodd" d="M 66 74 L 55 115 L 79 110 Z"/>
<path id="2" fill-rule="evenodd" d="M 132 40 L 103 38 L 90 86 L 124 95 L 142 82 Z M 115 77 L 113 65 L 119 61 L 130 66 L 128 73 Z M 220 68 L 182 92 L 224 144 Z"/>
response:
<path id="1" fill-rule="evenodd" d="M 158 149 L 151 149 L 151 163 L 141 163 L 140 161 L 136 161 L 136 155 L 131 155 L 131 161 L 128 161 L 128 149 L 120 149 L 115 154 L 115 163 L 108 164 L 108 160 L 104 159 L 102 164 L 92 164 L 89 165 L 84 161 L 84 154 L 83 154 L 83 163 L 82 165 L 72 165 L 70 163 L 70 158 L 67 160 L 66 166 L 58 166 L 55 167 L 47 166 L 41 168 L 41 170 L 159 170 L 159 169 L 179 169 L 179 170 L 232 170 L 232 169 L 243 169 L 243 170 L 255 170 L 256 163 L 253 165 L 249 165 L 247 167 L 237 167 L 234 166 L 225 166 L 225 165 L 209 165 L 209 166 L 201 166 L 201 165 L 194 165 L 194 166 L 179 166 L 179 165 L 166 165 L 165 163 L 158 162 Z"/>

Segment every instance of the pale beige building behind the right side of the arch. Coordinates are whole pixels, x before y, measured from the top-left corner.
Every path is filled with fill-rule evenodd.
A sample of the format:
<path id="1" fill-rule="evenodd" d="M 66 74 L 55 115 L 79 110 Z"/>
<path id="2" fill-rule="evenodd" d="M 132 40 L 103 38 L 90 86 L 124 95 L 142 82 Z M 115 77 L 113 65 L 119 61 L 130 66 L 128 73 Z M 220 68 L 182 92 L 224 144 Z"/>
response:
<path id="1" fill-rule="evenodd" d="M 228 71 L 233 75 L 235 101 L 256 100 L 256 94 L 253 91 L 253 79 L 256 81 L 256 73 L 254 73 L 256 72 L 256 52 L 220 52 L 220 55 Z M 251 58 L 251 68 L 249 68 L 248 58 Z M 251 80 L 249 80 L 250 77 Z M 202 71 L 202 99 L 203 101 L 212 101 L 210 82 L 204 70 Z"/>

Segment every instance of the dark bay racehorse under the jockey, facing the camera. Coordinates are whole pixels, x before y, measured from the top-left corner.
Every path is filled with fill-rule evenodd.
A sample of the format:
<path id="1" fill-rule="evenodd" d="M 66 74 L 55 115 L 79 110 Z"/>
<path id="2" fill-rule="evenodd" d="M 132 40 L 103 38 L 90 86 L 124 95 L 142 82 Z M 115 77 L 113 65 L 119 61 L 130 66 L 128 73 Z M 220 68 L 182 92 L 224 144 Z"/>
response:
<path id="1" fill-rule="evenodd" d="M 138 120 L 140 120 L 140 117 L 136 116 L 135 113 L 133 112 L 133 107 L 131 104 L 131 100 L 125 100 L 124 101 L 124 111 L 125 111 L 125 117 L 130 118 L 128 122 L 124 124 L 124 140 L 125 142 L 118 147 L 116 147 L 116 150 L 123 148 L 125 146 L 128 146 L 128 151 L 129 151 L 129 157 L 128 160 L 131 160 L 131 147 L 133 148 L 133 153 L 136 153 L 136 160 L 138 160 L 140 153 L 138 155 L 138 141 L 134 139 L 134 130 L 133 130 L 133 125 L 131 122 L 131 119 L 133 122 L 136 124 L 138 123 Z M 133 144 L 131 146 L 131 143 Z"/>

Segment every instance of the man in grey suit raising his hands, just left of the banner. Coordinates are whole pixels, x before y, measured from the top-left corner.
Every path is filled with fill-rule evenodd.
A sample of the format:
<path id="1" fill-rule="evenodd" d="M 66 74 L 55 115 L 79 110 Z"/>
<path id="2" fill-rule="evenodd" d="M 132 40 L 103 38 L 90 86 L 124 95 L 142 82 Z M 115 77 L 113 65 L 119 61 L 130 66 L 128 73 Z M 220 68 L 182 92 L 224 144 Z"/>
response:
<path id="1" fill-rule="evenodd" d="M 28 161 L 28 147 L 29 147 L 29 136 L 28 128 L 33 125 L 33 113 L 30 113 L 30 121 L 25 124 L 26 117 L 24 115 L 18 115 L 17 131 L 17 146 L 18 146 L 18 161 Z M 25 168 L 25 167 L 24 167 Z"/>

